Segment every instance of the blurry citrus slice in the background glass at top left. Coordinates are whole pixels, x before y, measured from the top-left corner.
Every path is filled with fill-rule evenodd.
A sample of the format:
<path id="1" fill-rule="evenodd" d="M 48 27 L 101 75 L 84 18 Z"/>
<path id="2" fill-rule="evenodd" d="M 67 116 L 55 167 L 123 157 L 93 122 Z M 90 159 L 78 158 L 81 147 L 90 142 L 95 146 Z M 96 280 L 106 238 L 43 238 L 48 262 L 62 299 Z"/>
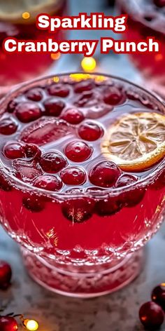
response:
<path id="1" fill-rule="evenodd" d="M 52 14 L 62 6 L 59 0 L 0 0 L 0 20 L 13 23 L 31 23 L 39 13 Z M 30 14 L 28 20 L 23 20 L 22 13 Z"/>

